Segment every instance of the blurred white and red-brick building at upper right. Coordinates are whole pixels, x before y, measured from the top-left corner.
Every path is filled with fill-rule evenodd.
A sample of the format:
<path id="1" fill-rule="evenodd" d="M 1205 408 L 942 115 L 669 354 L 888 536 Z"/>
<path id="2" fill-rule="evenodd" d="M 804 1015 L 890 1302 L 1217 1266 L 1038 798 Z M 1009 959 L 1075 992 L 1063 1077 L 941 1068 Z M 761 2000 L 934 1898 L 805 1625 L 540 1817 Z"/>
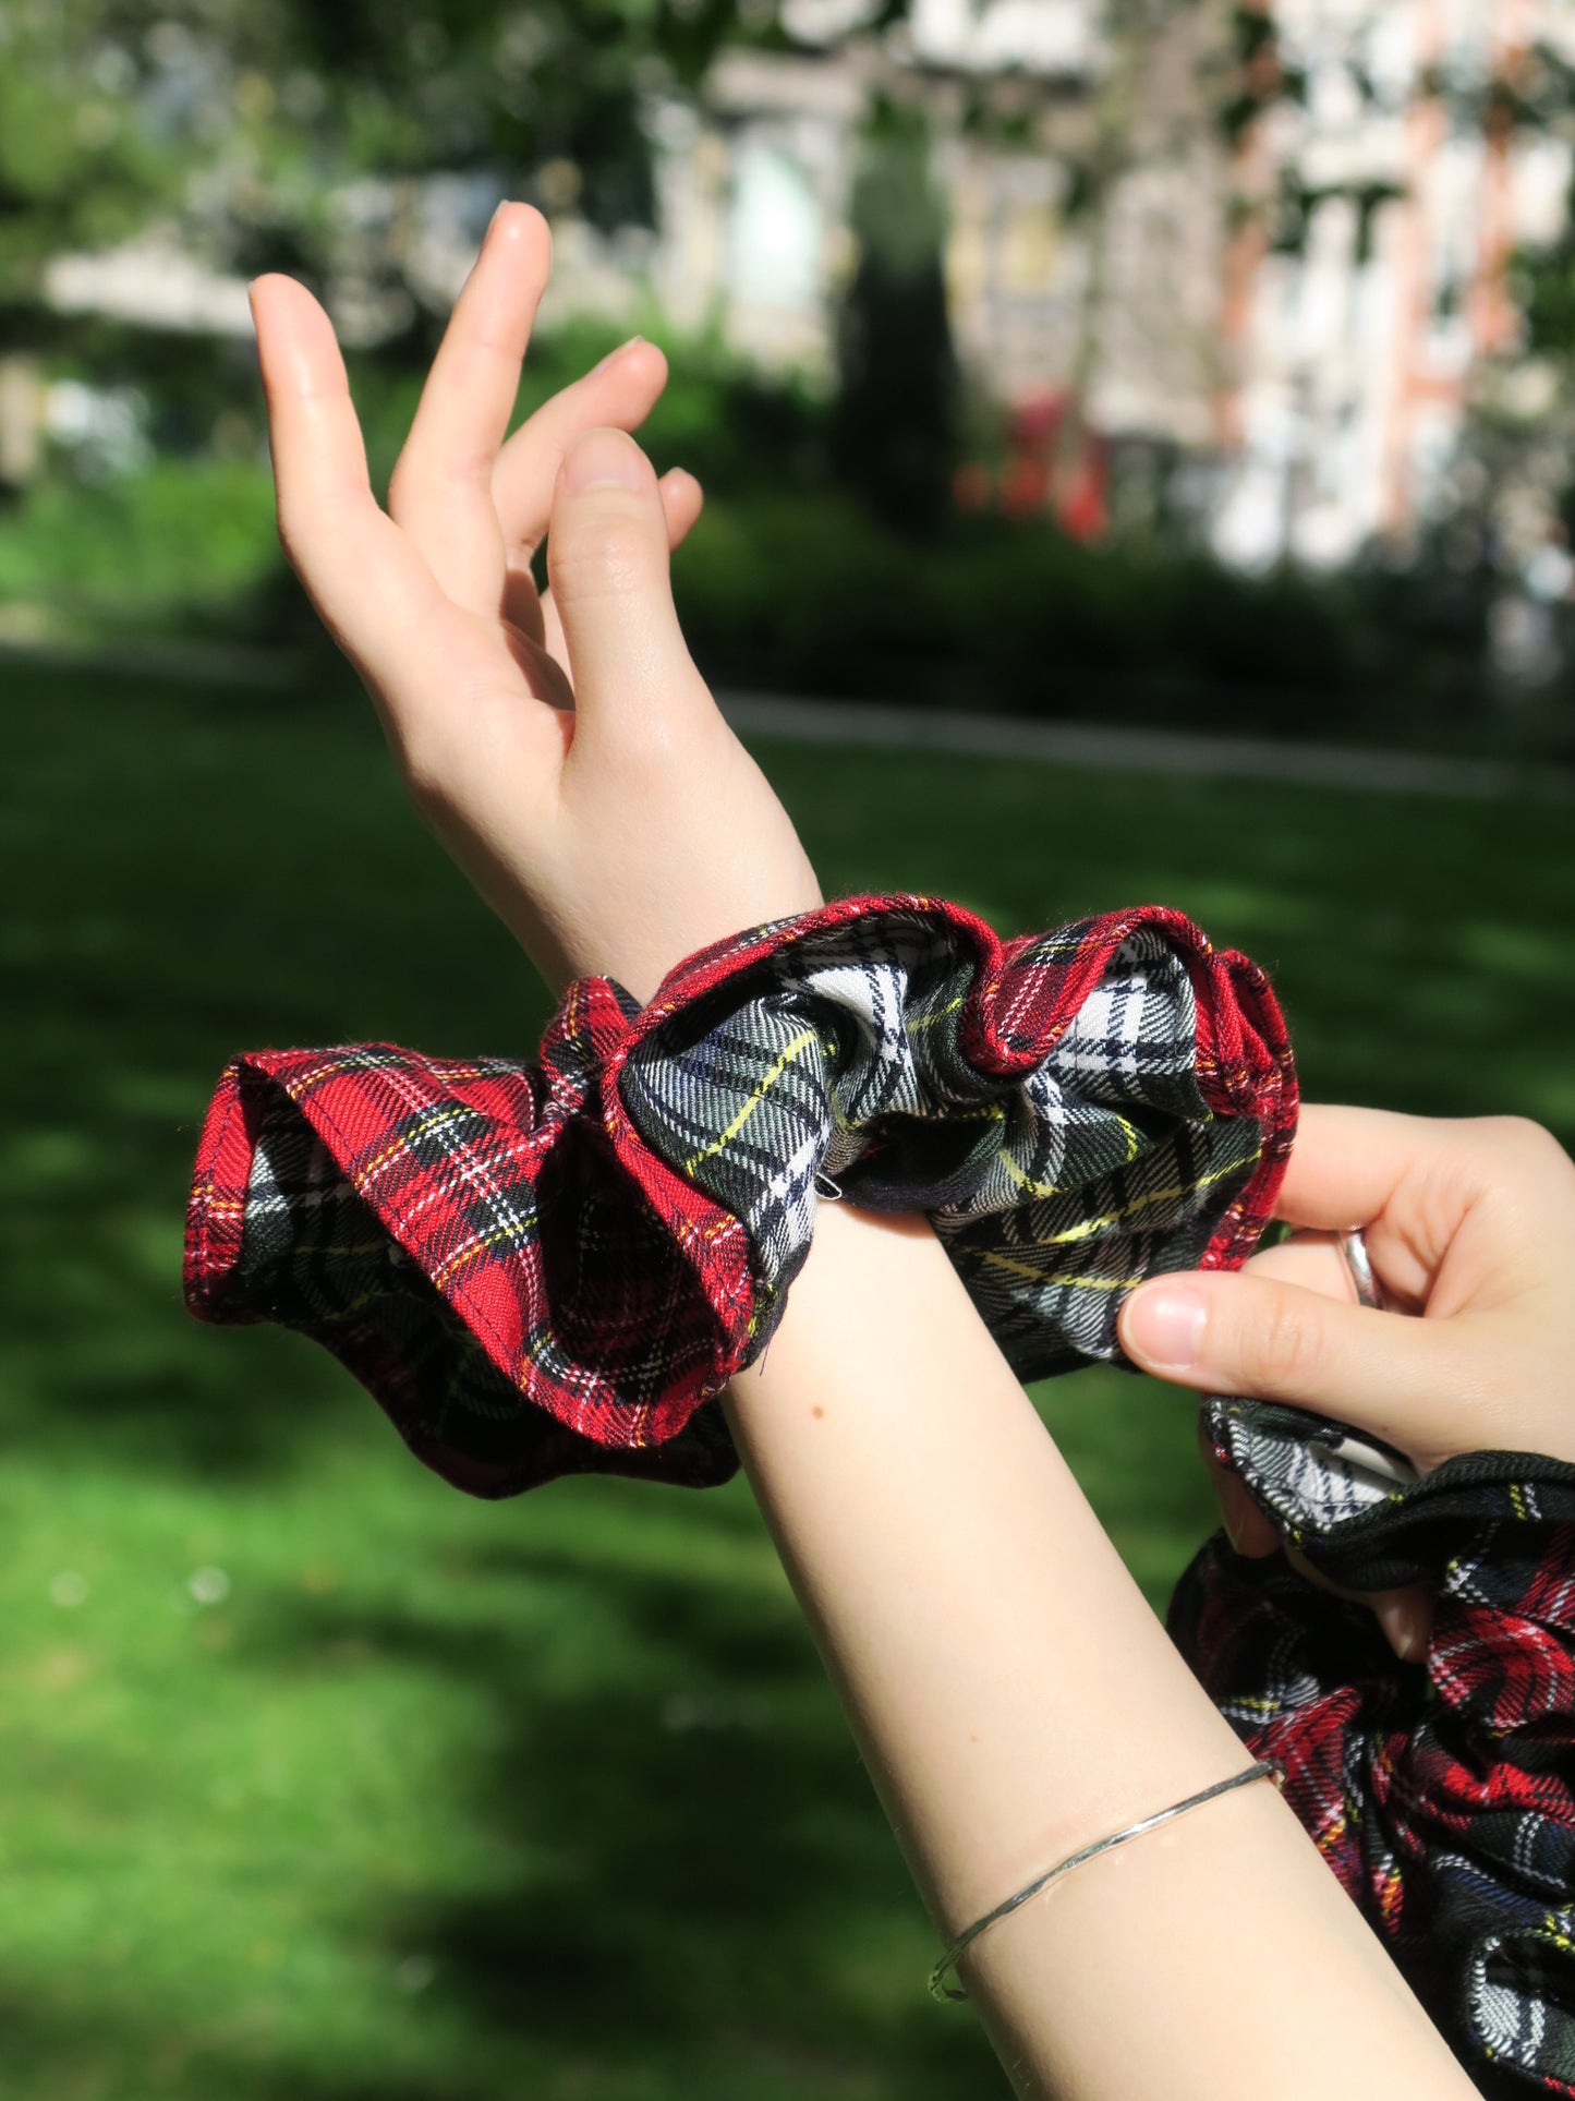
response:
<path id="1" fill-rule="evenodd" d="M 1270 212 L 1228 254 L 1214 540 L 1237 563 L 1331 565 L 1460 494 L 1472 389 L 1514 349 L 1512 252 L 1558 235 L 1571 187 L 1569 145 L 1487 90 L 1537 44 L 1575 55 L 1575 8 L 1277 0 L 1275 23 L 1306 88 L 1235 170 L 1279 202 L 1283 242 Z"/>

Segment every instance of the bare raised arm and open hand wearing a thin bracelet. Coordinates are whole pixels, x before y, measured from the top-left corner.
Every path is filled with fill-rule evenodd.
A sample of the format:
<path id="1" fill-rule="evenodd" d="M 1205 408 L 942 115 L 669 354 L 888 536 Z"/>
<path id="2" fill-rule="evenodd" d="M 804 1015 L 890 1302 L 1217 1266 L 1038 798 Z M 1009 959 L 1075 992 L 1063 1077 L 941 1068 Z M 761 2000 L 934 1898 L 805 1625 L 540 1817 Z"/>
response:
<path id="1" fill-rule="evenodd" d="M 544 284 L 546 227 L 512 206 L 384 513 L 328 317 L 262 279 L 279 523 L 477 889 L 550 981 L 611 971 L 645 998 L 689 950 L 819 891 L 682 647 L 668 546 L 697 492 L 609 429 L 655 397 L 649 355 L 504 435 Z M 729 1406 L 943 1931 L 1241 1769 L 920 1221 L 823 1208 Z M 1361 2067 L 1344 2090 L 1468 2093 L 1266 1786 L 1071 1876 L 981 1941 L 968 1981 L 1023 2093 L 1325 2093 L 1331 2019 Z"/>

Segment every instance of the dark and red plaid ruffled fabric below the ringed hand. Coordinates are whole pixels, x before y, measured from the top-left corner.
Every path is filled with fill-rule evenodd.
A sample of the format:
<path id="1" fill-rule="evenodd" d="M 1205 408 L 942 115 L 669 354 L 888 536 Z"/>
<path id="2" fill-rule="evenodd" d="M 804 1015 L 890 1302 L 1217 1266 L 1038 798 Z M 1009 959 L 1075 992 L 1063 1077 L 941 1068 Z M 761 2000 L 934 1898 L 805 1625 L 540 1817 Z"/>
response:
<path id="1" fill-rule="evenodd" d="M 1426 1584 L 1401 1664 L 1361 1605 L 1210 1540 L 1172 1635 L 1483 2093 L 1575 2095 L 1575 1466 L 1418 1479 L 1338 1424 L 1212 1401 L 1220 1462 L 1350 1590 Z"/>

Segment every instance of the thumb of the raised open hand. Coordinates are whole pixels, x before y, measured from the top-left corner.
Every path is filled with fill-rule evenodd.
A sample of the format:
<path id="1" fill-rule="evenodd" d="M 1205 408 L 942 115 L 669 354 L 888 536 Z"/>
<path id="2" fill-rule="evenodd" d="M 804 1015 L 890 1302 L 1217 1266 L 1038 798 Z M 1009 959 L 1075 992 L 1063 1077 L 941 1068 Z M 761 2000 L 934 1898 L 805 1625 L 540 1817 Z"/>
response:
<path id="1" fill-rule="evenodd" d="M 546 569 L 575 689 L 575 744 L 655 729 L 706 693 L 678 628 L 668 513 L 624 431 L 586 431 L 563 456 Z"/>

